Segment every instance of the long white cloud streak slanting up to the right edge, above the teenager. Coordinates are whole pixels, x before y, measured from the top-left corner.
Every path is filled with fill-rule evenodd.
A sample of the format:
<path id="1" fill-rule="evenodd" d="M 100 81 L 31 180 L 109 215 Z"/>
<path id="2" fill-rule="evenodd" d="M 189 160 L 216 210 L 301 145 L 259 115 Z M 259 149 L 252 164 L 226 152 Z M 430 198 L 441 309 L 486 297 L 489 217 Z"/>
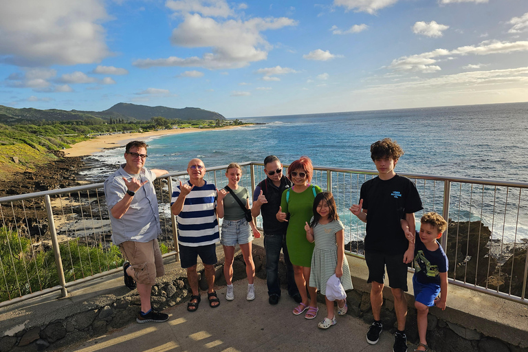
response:
<path id="1" fill-rule="evenodd" d="M 516 41 L 513 43 L 483 41 L 479 45 L 467 45 L 452 51 L 437 49 L 423 54 L 401 56 L 401 58 L 393 60 L 388 68 L 395 71 L 431 73 L 441 70 L 438 65 L 434 65 L 438 61 L 437 58 L 441 56 L 448 56 L 448 59 L 451 59 L 451 56 L 457 55 L 509 54 L 511 52 L 528 52 L 528 41 Z"/>

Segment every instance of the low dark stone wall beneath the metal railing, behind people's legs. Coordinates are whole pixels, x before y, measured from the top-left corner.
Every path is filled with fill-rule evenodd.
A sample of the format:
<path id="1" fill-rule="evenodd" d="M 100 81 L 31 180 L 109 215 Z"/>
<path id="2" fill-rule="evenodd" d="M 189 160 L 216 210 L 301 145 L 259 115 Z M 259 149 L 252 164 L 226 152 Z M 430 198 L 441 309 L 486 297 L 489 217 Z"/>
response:
<path id="1" fill-rule="evenodd" d="M 265 278 L 265 255 L 263 248 L 254 246 L 254 262 L 256 276 Z M 279 266 L 281 282 L 285 280 L 285 265 Z M 203 271 L 201 272 L 203 274 Z M 223 266 L 221 263 L 216 268 L 217 285 L 225 285 Z M 201 289 L 207 289 L 207 283 L 200 276 Z M 245 278 L 245 264 L 241 254 L 234 261 L 234 281 Z M 353 278 L 354 283 L 363 278 Z M 364 285 L 360 285 L 363 288 Z M 184 303 L 190 297 L 190 289 L 186 277 L 159 279 L 153 287 L 152 304 L 154 309 L 163 310 L 174 305 Z M 325 303 L 322 295 L 318 296 L 320 303 Z M 361 318 L 367 323 L 373 321 L 370 296 L 366 289 L 356 285 L 347 297 L 349 311 L 347 314 Z M 132 291 L 124 296 L 115 297 L 112 303 L 102 305 L 97 309 L 81 311 L 68 316 L 63 320 L 51 321 L 41 327 L 24 329 L 14 336 L 0 338 L 0 352 L 18 351 L 53 351 L 67 347 L 70 344 L 100 336 L 113 329 L 125 327 L 135 322 L 137 311 L 140 307 L 140 298 L 137 291 Z M 391 333 L 395 332 L 396 317 L 393 302 L 384 300 L 382 307 L 382 321 L 384 328 Z M 528 336 L 521 341 L 519 346 L 496 338 L 487 338 L 482 333 L 461 327 L 447 320 L 437 318 L 433 314 L 428 317 L 428 343 L 437 352 L 528 352 Z M 418 342 L 416 323 L 416 310 L 408 309 L 406 333 L 409 342 Z M 409 351 L 412 351 L 409 347 Z"/>

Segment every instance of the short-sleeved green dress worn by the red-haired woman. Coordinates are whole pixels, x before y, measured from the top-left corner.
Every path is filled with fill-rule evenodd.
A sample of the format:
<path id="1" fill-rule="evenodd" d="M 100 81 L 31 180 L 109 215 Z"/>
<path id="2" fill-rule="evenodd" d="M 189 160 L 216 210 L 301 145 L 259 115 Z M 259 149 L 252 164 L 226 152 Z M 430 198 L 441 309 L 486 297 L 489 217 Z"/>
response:
<path id="1" fill-rule="evenodd" d="M 289 191 L 289 199 L 286 202 L 287 190 L 283 192 L 281 208 L 283 212 L 289 213 L 288 230 L 286 231 L 286 245 L 288 247 L 289 260 L 293 265 L 310 267 L 311 255 L 314 253 L 314 243 L 306 239 L 305 225 L 314 216 L 314 190 L 321 192 L 318 186 L 308 186 L 304 192 L 296 193 Z"/>

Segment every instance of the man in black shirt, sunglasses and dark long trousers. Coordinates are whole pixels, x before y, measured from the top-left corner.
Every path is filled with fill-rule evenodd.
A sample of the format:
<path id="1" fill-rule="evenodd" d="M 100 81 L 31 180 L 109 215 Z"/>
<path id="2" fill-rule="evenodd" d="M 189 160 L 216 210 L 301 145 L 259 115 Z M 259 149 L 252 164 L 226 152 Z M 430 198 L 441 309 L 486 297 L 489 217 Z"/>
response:
<path id="1" fill-rule="evenodd" d="M 256 186 L 253 195 L 251 213 L 253 217 L 262 214 L 264 228 L 264 248 L 266 250 L 267 294 L 270 295 L 270 305 L 276 305 L 281 297 L 281 282 L 278 278 L 278 260 L 281 249 L 286 263 L 288 294 L 300 303 L 300 294 L 294 279 L 294 267 L 289 261 L 286 247 L 287 221 L 281 223 L 275 217 L 281 206 L 283 190 L 290 188 L 292 182 L 283 175 L 283 164 L 275 155 L 264 159 L 266 179 Z"/>

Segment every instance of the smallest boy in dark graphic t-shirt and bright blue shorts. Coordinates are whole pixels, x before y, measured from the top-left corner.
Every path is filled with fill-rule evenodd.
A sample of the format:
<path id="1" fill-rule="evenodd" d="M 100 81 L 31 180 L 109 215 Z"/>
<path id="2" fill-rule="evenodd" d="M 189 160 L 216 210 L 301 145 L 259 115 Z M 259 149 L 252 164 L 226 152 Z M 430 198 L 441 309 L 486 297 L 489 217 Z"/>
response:
<path id="1" fill-rule="evenodd" d="M 426 340 L 429 307 L 436 305 L 444 310 L 448 298 L 448 257 L 437 241 L 448 227 L 448 223 L 436 212 L 424 214 L 420 222 L 420 232 L 417 233 L 415 243 L 415 275 L 412 276 L 420 337 L 415 352 L 429 350 Z M 406 229 L 408 223 L 402 220 L 401 225 L 407 239 L 412 240 L 412 234 Z M 439 300 L 436 299 L 438 294 Z"/>

